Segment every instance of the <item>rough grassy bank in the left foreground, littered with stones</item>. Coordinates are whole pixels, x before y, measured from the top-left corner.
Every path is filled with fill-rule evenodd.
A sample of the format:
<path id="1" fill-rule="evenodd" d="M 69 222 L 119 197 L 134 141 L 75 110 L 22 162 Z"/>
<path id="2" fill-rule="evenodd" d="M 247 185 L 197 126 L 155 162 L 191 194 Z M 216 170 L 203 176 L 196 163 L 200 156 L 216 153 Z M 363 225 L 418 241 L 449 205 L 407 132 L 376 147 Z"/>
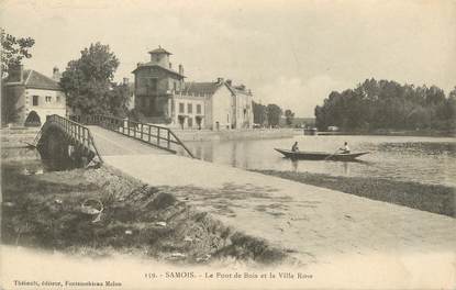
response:
<path id="1" fill-rule="evenodd" d="M 76 255 L 134 254 L 174 263 L 280 263 L 286 254 L 238 233 L 171 194 L 105 168 L 25 176 L 2 164 L 3 244 Z M 103 211 L 81 204 L 99 200 Z"/>

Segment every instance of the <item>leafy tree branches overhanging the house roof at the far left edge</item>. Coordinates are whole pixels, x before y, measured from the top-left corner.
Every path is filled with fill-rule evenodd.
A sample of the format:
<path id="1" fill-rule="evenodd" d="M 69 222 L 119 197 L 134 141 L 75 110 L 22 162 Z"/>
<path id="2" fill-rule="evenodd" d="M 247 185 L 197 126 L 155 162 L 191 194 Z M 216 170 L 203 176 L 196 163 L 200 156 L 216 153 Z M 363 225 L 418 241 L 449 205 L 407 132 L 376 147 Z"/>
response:
<path id="1" fill-rule="evenodd" d="M 21 65 L 23 58 L 31 58 L 30 48 L 35 44 L 32 37 L 16 37 L 1 30 L 1 69 L 3 78 L 11 68 Z"/>

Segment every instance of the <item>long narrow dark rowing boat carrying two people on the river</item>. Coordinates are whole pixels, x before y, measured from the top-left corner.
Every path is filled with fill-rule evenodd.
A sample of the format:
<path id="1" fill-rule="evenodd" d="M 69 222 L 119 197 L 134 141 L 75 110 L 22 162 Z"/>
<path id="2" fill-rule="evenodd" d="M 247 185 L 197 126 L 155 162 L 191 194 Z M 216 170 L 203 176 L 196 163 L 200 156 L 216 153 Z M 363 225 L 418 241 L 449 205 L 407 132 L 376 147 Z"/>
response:
<path id="1" fill-rule="evenodd" d="M 368 152 L 358 153 L 325 153 L 325 152 L 292 152 L 287 149 L 275 148 L 275 150 L 283 154 L 286 158 L 307 159 L 307 160 L 337 160 L 353 161 L 357 157 L 368 154 Z"/>

